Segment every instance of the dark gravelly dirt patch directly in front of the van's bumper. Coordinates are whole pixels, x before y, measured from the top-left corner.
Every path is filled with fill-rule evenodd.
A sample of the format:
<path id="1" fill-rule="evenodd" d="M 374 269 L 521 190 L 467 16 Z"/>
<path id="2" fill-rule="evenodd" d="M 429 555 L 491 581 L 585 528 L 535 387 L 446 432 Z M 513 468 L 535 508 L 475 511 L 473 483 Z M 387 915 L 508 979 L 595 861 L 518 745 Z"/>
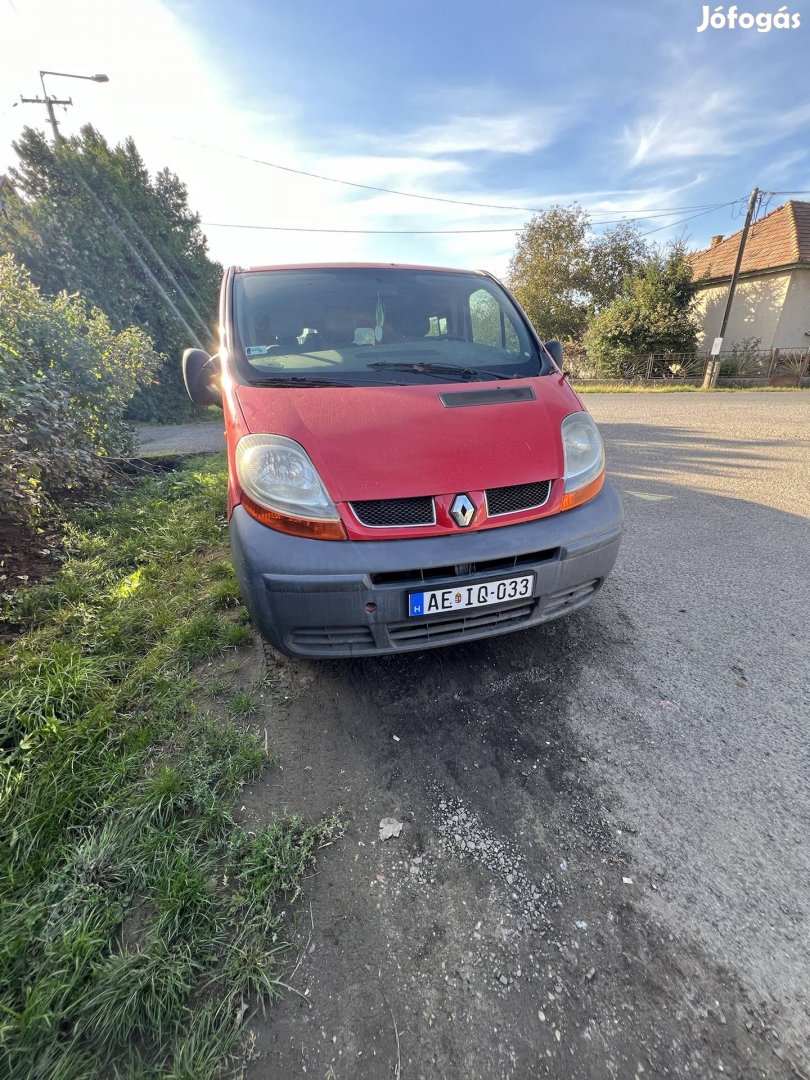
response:
<path id="1" fill-rule="evenodd" d="M 261 689 L 257 647 L 243 677 L 281 765 L 242 819 L 340 806 L 349 826 L 248 1077 L 796 1075 L 769 1004 L 645 910 L 666 869 L 636 867 L 565 719 L 606 634 L 583 612 L 510 638 L 507 662 L 483 643 L 416 671 L 271 658 Z"/>

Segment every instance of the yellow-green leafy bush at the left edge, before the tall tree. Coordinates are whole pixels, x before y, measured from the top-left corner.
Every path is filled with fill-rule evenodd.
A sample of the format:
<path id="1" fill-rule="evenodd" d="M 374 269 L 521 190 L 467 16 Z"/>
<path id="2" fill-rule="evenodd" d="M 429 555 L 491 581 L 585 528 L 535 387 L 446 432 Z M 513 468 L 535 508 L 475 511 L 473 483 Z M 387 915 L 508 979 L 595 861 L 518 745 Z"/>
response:
<path id="1" fill-rule="evenodd" d="M 42 296 L 0 256 L 0 513 L 31 521 L 131 449 L 126 404 L 163 357 L 78 296 Z"/>

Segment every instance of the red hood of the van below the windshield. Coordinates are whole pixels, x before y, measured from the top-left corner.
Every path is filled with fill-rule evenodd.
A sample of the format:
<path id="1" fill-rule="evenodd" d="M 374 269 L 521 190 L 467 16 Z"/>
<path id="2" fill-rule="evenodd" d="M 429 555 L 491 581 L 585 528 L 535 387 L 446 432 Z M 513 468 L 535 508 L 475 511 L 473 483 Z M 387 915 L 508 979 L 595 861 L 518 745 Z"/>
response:
<path id="1" fill-rule="evenodd" d="M 442 401 L 494 388 L 530 388 L 534 396 L 454 407 Z M 247 431 L 300 443 L 336 502 L 556 480 L 563 475 L 559 424 L 582 408 L 556 374 L 509 382 L 235 390 Z"/>

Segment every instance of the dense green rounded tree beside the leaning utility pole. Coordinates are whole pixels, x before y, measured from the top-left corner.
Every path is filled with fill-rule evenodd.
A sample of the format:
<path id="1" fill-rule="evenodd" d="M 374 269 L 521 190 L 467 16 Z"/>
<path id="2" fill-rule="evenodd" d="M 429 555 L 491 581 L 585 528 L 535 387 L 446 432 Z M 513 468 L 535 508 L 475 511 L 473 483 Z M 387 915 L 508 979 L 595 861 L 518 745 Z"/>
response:
<path id="1" fill-rule="evenodd" d="M 694 352 L 699 282 L 683 244 L 653 252 L 642 271 L 625 281 L 621 294 L 591 322 L 584 336 L 589 360 L 606 375 L 639 353 Z"/>

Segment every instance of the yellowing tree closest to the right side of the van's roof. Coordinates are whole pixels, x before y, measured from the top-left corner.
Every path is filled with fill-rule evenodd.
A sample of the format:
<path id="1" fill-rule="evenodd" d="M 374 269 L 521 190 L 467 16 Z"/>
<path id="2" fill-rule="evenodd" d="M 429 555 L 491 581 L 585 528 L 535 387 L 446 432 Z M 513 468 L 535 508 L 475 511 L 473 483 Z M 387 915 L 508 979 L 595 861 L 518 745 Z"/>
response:
<path id="1" fill-rule="evenodd" d="M 552 206 L 518 234 L 508 281 L 541 337 L 576 341 L 646 257 L 634 226 L 594 237 L 581 206 Z"/>

